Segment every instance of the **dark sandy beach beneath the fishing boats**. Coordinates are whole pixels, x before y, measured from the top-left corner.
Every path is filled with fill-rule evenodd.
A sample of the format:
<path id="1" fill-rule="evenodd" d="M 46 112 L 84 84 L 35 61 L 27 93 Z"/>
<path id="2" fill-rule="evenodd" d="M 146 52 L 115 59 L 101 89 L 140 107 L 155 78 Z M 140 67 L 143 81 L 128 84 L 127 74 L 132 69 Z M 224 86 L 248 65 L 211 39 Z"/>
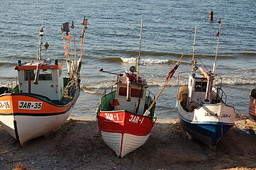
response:
<path id="1" fill-rule="evenodd" d="M 238 115 L 211 150 L 190 141 L 179 120 L 157 120 L 148 141 L 118 159 L 95 120 L 70 118 L 59 130 L 18 145 L 0 126 L 0 169 L 256 169 L 256 123 Z"/>

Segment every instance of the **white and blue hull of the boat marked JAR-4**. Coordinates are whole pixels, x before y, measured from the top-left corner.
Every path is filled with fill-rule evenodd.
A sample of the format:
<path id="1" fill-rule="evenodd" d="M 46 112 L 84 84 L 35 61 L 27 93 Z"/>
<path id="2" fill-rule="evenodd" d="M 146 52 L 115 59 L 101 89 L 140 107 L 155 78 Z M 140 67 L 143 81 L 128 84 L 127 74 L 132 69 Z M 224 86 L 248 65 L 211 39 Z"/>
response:
<path id="1" fill-rule="evenodd" d="M 205 104 L 187 112 L 177 101 L 177 112 L 184 131 L 211 148 L 235 124 L 235 109 L 224 103 Z"/>

